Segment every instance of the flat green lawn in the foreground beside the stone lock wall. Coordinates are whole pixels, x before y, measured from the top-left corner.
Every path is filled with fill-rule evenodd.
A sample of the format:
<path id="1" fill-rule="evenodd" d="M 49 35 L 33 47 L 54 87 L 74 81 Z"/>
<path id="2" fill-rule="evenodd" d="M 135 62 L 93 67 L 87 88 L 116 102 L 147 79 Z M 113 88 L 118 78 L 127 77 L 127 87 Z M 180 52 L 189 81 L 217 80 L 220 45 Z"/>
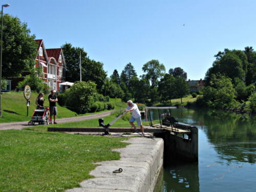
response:
<path id="1" fill-rule="evenodd" d="M 118 160 L 112 152 L 125 138 L 40 131 L 0 131 L 0 191 L 65 191 L 92 178 L 96 161 Z"/>

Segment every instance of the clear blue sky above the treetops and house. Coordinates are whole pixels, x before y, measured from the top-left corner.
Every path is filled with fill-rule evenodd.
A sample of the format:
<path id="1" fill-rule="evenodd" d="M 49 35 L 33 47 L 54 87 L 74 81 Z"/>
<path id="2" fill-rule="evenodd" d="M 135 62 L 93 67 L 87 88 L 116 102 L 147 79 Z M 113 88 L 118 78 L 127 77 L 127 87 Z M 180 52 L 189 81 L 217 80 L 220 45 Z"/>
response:
<path id="1" fill-rule="evenodd" d="M 158 59 L 204 78 L 218 51 L 256 49 L 256 1 L 4 0 L 4 13 L 26 22 L 46 48 L 82 47 L 104 70 L 131 62 L 138 75 Z"/>

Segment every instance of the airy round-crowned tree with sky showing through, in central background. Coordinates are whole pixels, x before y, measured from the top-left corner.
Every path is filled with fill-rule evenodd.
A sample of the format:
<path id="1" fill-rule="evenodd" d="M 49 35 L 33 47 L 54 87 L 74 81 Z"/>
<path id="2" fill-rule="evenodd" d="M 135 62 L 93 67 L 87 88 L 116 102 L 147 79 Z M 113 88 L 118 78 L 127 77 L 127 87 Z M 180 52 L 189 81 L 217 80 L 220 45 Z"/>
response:
<path id="1" fill-rule="evenodd" d="M 164 75 L 165 67 L 158 60 L 153 59 L 146 62 L 142 70 L 146 73 L 145 78 L 151 81 L 151 86 L 154 88 L 157 86 L 158 79 Z"/>

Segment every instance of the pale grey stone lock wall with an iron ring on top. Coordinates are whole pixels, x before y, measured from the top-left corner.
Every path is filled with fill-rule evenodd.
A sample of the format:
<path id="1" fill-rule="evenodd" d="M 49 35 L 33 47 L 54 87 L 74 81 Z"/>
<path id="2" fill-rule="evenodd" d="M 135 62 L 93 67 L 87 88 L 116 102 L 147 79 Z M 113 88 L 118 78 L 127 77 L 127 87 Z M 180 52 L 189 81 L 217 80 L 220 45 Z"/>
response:
<path id="1" fill-rule="evenodd" d="M 120 152 L 120 160 L 97 162 L 99 166 L 90 173 L 95 178 L 82 181 L 81 187 L 66 191 L 152 192 L 163 165 L 163 139 L 136 137 L 123 142 L 131 144 L 113 150 Z M 121 173 L 113 173 L 119 168 L 122 168 Z"/>

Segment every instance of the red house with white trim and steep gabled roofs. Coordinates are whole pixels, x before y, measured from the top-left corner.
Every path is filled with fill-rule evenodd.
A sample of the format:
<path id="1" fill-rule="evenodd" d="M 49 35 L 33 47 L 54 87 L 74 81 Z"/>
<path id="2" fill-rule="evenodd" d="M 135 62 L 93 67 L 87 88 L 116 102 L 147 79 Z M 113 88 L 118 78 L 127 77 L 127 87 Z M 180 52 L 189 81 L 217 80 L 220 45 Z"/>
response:
<path id="1" fill-rule="evenodd" d="M 37 56 L 35 58 L 35 68 L 40 67 L 44 80 L 51 90 L 62 92 L 62 86 L 59 84 L 65 81 L 65 58 L 61 48 L 46 49 L 42 39 L 35 40 L 38 44 Z M 29 75 L 29 72 L 23 72 L 22 77 L 9 77 L 10 88 L 14 90 L 19 81 L 24 80 L 24 77 Z"/>

